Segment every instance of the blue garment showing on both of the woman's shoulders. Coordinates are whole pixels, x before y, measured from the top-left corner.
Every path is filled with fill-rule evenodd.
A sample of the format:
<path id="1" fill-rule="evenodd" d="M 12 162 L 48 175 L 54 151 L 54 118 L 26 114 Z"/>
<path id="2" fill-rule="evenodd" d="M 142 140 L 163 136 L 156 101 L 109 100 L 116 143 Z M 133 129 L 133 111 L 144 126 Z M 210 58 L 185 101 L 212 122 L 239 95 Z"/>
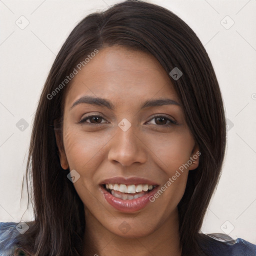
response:
<path id="1" fill-rule="evenodd" d="M 18 223 L 0 222 L 0 256 L 13 256 L 18 248 Z M 256 245 L 241 238 L 233 240 L 221 233 L 202 234 L 200 247 L 208 256 L 256 256 Z M 27 255 L 19 250 L 16 255 Z"/>

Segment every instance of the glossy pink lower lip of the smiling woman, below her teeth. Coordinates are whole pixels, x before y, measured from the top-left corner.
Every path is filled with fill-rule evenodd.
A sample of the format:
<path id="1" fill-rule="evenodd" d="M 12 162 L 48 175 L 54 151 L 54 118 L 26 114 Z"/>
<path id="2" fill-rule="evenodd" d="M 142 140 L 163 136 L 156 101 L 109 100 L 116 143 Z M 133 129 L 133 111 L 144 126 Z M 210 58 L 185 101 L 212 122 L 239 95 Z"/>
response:
<path id="1" fill-rule="evenodd" d="M 130 200 L 122 200 L 120 198 L 114 197 L 112 194 L 107 192 L 102 186 L 100 186 L 106 201 L 112 205 L 115 209 L 122 212 L 135 212 L 146 206 L 149 202 L 149 197 L 155 193 L 155 189 L 158 187 L 154 187 L 151 191 L 144 194 L 141 197 L 130 199 Z"/>

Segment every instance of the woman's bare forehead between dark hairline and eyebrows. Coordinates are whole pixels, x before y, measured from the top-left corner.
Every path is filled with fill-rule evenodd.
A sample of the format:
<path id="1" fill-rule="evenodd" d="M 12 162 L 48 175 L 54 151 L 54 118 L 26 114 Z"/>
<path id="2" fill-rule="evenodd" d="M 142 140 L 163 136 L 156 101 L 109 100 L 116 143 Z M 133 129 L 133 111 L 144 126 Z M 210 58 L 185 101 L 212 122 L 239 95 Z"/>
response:
<path id="1" fill-rule="evenodd" d="M 179 101 L 169 75 L 149 53 L 122 46 L 105 47 L 77 71 L 68 85 L 68 106 L 84 95 L 133 103 L 154 96 Z"/>

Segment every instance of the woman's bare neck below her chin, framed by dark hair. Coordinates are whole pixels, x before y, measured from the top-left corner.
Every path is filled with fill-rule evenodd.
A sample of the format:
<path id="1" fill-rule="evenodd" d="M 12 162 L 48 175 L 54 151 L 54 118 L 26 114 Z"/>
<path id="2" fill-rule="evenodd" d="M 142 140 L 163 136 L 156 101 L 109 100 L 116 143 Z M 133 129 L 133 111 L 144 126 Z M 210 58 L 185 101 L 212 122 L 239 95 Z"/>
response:
<path id="1" fill-rule="evenodd" d="M 122 237 L 110 232 L 90 213 L 85 214 L 84 254 L 100 256 L 180 256 L 178 212 L 172 213 L 151 233 L 142 237 Z"/>

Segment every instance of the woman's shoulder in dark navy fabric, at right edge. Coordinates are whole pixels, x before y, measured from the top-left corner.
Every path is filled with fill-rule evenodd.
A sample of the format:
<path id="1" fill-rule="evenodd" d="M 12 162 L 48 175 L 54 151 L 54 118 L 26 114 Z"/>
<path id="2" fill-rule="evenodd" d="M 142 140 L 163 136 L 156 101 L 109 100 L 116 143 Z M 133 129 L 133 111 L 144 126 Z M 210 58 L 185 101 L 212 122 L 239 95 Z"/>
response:
<path id="1" fill-rule="evenodd" d="M 222 233 L 200 234 L 199 246 L 209 256 L 256 256 L 256 245 Z"/>

